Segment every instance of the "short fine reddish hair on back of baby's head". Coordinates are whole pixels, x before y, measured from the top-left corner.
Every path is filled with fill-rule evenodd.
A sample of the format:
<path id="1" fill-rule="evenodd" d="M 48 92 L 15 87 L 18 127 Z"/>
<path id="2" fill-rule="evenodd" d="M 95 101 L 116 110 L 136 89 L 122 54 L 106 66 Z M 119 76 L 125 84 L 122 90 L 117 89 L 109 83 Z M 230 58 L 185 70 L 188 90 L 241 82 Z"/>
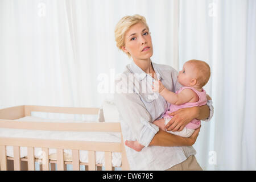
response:
<path id="1" fill-rule="evenodd" d="M 210 78 L 210 67 L 205 61 L 201 60 L 189 60 L 187 63 L 191 63 L 195 65 L 196 69 L 196 80 L 198 82 L 198 86 L 202 88 L 204 85 L 207 84 Z"/>

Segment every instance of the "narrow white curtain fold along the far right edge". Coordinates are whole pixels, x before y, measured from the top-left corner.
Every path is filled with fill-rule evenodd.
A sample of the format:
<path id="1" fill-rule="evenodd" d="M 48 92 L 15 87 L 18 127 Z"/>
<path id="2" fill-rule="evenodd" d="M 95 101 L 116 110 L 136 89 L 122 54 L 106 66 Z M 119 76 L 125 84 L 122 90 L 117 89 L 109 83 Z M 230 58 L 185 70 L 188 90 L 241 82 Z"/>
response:
<path id="1" fill-rule="evenodd" d="M 243 170 L 256 169 L 256 1 L 247 3 L 247 36 L 245 66 L 245 105 L 243 108 L 242 164 Z"/>

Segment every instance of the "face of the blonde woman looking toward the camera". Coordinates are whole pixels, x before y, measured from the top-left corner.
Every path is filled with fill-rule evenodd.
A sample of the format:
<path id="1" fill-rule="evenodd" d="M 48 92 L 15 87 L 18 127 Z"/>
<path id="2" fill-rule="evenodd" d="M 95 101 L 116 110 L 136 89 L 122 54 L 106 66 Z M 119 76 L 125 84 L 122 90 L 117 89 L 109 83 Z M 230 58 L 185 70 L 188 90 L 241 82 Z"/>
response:
<path id="1" fill-rule="evenodd" d="M 134 24 L 125 34 L 124 52 L 129 52 L 133 60 L 149 59 L 153 55 L 151 35 L 144 23 Z"/>

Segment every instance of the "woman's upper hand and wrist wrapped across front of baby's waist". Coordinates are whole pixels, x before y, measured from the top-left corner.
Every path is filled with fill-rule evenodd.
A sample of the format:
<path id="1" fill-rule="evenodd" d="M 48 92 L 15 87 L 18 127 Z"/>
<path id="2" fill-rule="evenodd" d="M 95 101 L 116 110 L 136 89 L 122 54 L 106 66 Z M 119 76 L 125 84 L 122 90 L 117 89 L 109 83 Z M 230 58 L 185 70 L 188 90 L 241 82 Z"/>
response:
<path id="1" fill-rule="evenodd" d="M 197 107 L 183 108 L 173 113 L 169 113 L 169 115 L 172 115 L 173 117 L 170 122 L 167 123 L 165 128 L 167 131 L 181 131 L 189 122 L 197 118 L 197 114 Z"/>

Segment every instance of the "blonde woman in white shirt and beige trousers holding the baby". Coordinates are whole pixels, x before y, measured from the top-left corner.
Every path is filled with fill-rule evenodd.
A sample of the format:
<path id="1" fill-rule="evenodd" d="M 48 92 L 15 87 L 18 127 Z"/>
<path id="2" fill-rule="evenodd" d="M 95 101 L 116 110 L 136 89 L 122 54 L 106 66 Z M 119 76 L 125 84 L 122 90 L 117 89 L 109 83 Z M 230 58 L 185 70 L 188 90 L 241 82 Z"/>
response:
<path id="1" fill-rule="evenodd" d="M 123 17 L 115 27 L 115 41 L 117 47 L 133 59 L 115 80 L 114 100 L 120 114 L 123 139 L 137 140 L 145 146 L 140 152 L 125 146 L 130 169 L 201 170 L 192 147 L 200 129 L 190 138 L 183 138 L 159 130 L 152 123 L 163 116 L 170 104 L 152 92 L 151 83 L 160 80 L 172 92 L 181 85 L 174 68 L 152 63 L 153 47 L 146 19 L 140 15 Z M 174 113 L 167 130 L 181 131 L 192 119 L 206 121 L 205 118 L 210 115 L 209 120 L 212 114 L 210 101 L 201 107 L 180 109 Z"/>

